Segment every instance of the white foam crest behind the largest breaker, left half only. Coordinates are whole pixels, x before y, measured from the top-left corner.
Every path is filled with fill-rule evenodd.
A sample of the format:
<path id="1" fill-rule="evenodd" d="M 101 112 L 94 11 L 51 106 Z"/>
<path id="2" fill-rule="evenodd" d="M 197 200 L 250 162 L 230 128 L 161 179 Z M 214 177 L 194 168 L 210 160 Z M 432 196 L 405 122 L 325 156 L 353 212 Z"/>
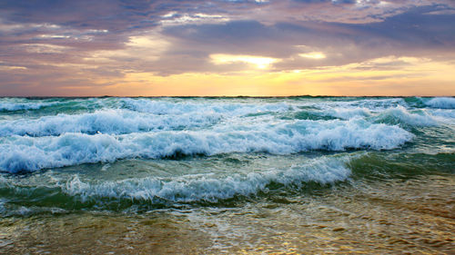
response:
<path id="1" fill-rule="evenodd" d="M 65 132 L 128 133 L 163 130 L 182 130 L 212 125 L 220 121 L 219 114 L 155 115 L 121 109 L 106 109 L 95 113 L 57 114 L 38 119 L 0 121 L 0 136 L 60 135 Z"/>

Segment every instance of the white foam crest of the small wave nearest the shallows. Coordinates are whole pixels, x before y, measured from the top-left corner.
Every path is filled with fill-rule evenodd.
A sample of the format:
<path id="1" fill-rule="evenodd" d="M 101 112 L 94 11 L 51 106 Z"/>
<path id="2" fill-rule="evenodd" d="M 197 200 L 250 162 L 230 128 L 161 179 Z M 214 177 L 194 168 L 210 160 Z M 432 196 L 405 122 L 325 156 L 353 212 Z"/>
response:
<path id="1" fill-rule="evenodd" d="M 300 186 L 302 182 L 308 181 L 322 184 L 344 181 L 350 175 L 346 162 L 349 162 L 348 157 L 321 157 L 285 170 L 233 174 L 222 178 L 207 173 L 175 177 L 171 180 L 148 177 L 90 184 L 75 176 L 67 181 L 62 189 L 71 196 L 79 196 L 82 201 L 109 198 L 152 202 L 157 199 L 173 202 L 215 202 L 267 191 L 268 184 L 272 182 L 285 186 Z"/>

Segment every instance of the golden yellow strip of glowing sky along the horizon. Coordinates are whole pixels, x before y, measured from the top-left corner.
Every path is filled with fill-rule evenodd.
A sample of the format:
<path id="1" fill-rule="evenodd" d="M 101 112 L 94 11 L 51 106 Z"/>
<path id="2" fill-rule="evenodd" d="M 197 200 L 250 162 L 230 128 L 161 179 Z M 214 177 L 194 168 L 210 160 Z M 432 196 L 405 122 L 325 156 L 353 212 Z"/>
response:
<path id="1" fill-rule="evenodd" d="M 220 58 L 224 59 L 224 58 Z M 220 64 L 240 62 L 238 59 Z M 242 59 L 242 62 L 245 62 Z M 400 63 L 376 70 L 375 65 Z M 425 58 L 388 56 L 324 69 L 281 72 L 241 72 L 236 74 L 127 73 L 118 81 L 99 81 L 97 94 L 126 95 L 439 95 L 450 93 L 453 64 Z M 441 75 L 444 74 L 444 75 Z M 437 83 L 429 93 L 427 83 Z M 365 85 L 374 84 L 374 86 Z M 410 91 L 410 84 L 413 90 Z M 380 88 L 380 91 L 378 91 Z"/>

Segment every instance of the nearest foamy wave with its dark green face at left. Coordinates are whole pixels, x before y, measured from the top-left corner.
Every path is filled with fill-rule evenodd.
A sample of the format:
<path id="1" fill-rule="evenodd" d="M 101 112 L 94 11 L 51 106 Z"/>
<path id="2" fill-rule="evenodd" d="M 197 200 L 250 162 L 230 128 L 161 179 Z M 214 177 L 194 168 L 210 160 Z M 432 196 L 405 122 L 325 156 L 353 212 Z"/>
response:
<path id="1" fill-rule="evenodd" d="M 142 177 L 124 180 L 84 179 L 78 174 L 58 176 L 46 174 L 44 182 L 22 182 L 17 179 L 1 180 L 0 214 L 12 211 L 11 199 L 32 201 L 28 205 L 38 213 L 49 204 L 53 211 L 87 209 L 95 206 L 109 209 L 130 208 L 132 204 L 174 204 L 218 202 L 236 197 L 258 195 L 282 187 L 301 189 L 309 182 L 326 185 L 345 181 L 351 171 L 351 159 L 358 155 L 323 156 L 283 168 L 269 168 L 260 172 L 215 174 L 213 172 L 171 177 Z M 49 180 L 47 180 L 49 179 Z M 129 202 L 122 202 L 129 201 Z M 115 204 L 115 206 L 111 206 Z M 122 205 L 123 204 L 123 205 Z M 31 213 L 27 210 L 16 210 Z"/>

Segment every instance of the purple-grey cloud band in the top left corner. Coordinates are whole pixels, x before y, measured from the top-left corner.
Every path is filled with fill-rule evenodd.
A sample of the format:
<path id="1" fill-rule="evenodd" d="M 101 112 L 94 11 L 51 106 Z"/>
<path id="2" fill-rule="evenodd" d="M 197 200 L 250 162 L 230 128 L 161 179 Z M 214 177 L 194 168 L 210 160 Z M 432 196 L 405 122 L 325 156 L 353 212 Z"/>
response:
<path id="1" fill-rule="evenodd" d="M 129 1 L 128 1 L 129 3 Z M 149 15 L 159 13 L 146 1 L 2 1 L 2 15 L 11 22 L 54 24 L 74 29 L 121 31 L 144 25 Z"/>

